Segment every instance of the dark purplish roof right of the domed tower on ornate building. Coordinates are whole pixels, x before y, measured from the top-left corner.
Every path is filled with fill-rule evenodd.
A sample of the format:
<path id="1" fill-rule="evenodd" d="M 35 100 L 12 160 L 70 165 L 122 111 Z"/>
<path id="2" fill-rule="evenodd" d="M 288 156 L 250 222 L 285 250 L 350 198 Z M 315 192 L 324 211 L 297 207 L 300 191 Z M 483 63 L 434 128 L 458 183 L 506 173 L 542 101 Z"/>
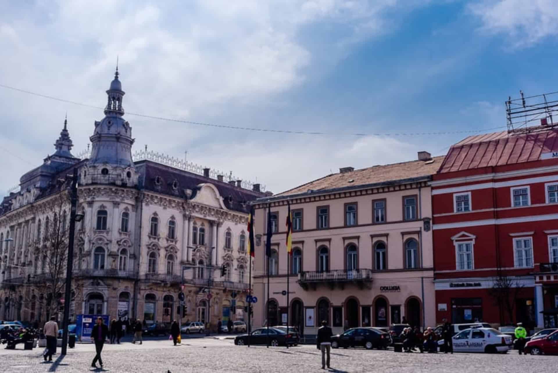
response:
<path id="1" fill-rule="evenodd" d="M 246 202 L 265 196 L 265 193 L 262 192 L 240 188 L 227 182 L 218 181 L 213 178 L 182 171 L 151 161 L 139 161 L 135 162 L 135 165 L 137 171 L 140 172 L 141 175 L 141 189 L 169 196 L 185 198 L 185 190 L 190 189 L 194 193 L 191 197 L 194 197 L 198 185 L 202 183 L 211 183 L 217 188 L 220 196 L 223 197 L 227 209 L 246 213 L 249 212 L 249 206 L 246 205 Z M 158 185 L 155 183 L 157 176 L 161 177 L 161 182 Z M 176 189 L 172 187 L 172 182 L 175 180 L 178 183 Z"/>

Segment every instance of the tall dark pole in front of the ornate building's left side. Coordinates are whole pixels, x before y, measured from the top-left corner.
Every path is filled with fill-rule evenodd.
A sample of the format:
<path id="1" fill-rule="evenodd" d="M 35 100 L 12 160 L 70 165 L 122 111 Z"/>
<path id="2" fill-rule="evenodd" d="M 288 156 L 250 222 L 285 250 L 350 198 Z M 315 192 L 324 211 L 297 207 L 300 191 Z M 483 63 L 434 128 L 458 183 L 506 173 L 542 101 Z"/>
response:
<path id="1" fill-rule="evenodd" d="M 66 355 L 66 350 L 68 348 L 68 321 L 70 318 L 71 278 L 74 263 L 75 220 L 78 205 L 78 168 L 74 168 L 74 175 L 72 175 L 71 180 L 70 196 L 70 232 L 68 237 L 68 263 L 66 263 L 66 295 L 64 297 L 64 321 L 62 322 L 62 325 L 64 325 L 64 331 L 62 332 L 61 355 Z"/>

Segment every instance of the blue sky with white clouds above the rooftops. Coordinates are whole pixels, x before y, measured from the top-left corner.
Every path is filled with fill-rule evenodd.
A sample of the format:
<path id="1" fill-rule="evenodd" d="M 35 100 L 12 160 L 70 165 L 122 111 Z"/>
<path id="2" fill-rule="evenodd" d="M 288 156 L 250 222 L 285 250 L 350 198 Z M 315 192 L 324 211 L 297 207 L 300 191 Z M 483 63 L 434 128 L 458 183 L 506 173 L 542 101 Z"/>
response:
<path id="1" fill-rule="evenodd" d="M 134 149 L 233 171 L 279 192 L 339 167 L 444 154 L 504 127 L 504 100 L 556 91 L 553 0 L 0 2 L 0 84 L 94 106 L 116 57 Z M 0 195 L 102 110 L 0 87 Z M 355 133 L 364 135 L 354 135 Z M 381 137 L 373 134 L 391 134 Z"/>

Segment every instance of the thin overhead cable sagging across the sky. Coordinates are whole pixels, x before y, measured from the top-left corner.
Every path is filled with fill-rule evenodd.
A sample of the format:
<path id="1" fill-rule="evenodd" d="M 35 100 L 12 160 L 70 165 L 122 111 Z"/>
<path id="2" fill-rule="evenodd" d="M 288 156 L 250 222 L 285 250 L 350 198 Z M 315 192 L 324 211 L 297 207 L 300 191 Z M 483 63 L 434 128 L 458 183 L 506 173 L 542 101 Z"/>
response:
<path id="1" fill-rule="evenodd" d="M 32 91 L 28 91 L 25 89 L 15 88 L 9 85 L 0 84 L 0 87 L 11 89 L 14 91 L 18 91 L 21 93 L 26 93 L 33 96 L 38 96 L 50 100 L 56 100 L 63 103 L 85 106 L 86 108 L 93 108 L 93 109 L 101 109 L 104 110 L 101 106 L 89 105 L 84 103 L 79 103 L 77 101 L 71 101 L 66 99 L 61 99 L 54 96 L 44 95 Z M 225 124 L 215 124 L 215 123 L 204 123 L 204 122 L 194 122 L 192 120 L 184 120 L 184 119 L 175 119 L 175 118 L 164 118 L 158 117 L 156 115 L 148 115 L 148 114 L 140 114 L 140 113 L 129 113 L 128 115 L 134 115 L 136 117 L 141 118 L 149 118 L 149 119 L 157 119 L 157 120 L 166 120 L 168 122 L 178 122 L 178 123 L 186 123 L 186 124 L 193 124 L 193 125 L 201 125 L 205 127 L 214 127 L 214 128 L 227 128 L 227 129 L 236 129 L 236 130 L 247 130 L 247 131 L 256 131 L 256 132 L 272 132 L 272 133 L 288 133 L 288 134 L 304 134 L 304 135 L 339 135 L 339 133 L 328 133 L 328 132 L 311 132 L 311 131 L 295 131 L 295 130 L 287 130 L 287 129 L 269 129 L 269 128 L 254 128 L 254 127 L 240 127 L 236 125 L 225 125 Z M 376 137 L 392 137 L 392 136 L 427 136 L 427 135 L 447 135 L 447 134 L 459 134 L 459 133 L 480 133 L 480 132 L 488 132 L 495 129 L 502 129 L 506 128 L 505 125 L 500 127 L 493 127 L 493 128 L 485 128 L 485 129 L 476 129 L 476 130 L 461 130 L 461 131 L 442 131 L 442 132 L 398 132 L 398 133 L 344 133 L 345 135 L 353 135 L 353 136 L 376 136 Z"/>

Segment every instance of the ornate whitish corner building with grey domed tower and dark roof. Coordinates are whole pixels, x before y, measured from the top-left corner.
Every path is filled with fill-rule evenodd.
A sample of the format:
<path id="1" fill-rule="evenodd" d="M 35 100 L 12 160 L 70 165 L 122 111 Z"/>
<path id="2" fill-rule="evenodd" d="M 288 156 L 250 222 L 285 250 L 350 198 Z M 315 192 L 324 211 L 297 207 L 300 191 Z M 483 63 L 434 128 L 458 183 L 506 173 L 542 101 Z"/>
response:
<path id="1" fill-rule="evenodd" d="M 56 152 L 21 177 L 20 191 L 0 206 L 0 319 L 47 319 L 44 232 L 69 219 L 70 182 L 79 169 L 71 318 L 109 314 L 147 323 L 244 319 L 248 290 L 248 203 L 259 185 L 210 178 L 148 159 L 132 161 L 132 128 L 123 118 L 118 71 L 105 117 L 95 122 L 89 158 L 74 157 L 66 122 Z M 58 212 L 58 215 L 55 216 Z M 225 274 L 222 275 L 222 268 Z M 233 304 L 235 303 L 235 309 Z"/>

